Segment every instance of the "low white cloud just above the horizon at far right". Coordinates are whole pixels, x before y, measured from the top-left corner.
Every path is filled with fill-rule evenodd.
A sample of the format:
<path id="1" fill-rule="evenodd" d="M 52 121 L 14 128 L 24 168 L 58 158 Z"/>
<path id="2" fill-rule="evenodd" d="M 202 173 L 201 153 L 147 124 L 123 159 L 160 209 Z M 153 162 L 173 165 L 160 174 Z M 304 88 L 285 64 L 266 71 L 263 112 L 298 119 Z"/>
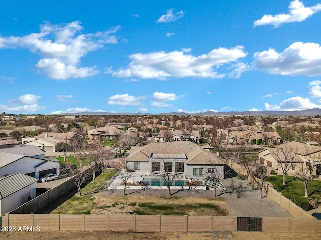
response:
<path id="1" fill-rule="evenodd" d="M 279 105 L 270 105 L 268 103 L 265 103 L 265 108 L 268 111 L 296 111 L 312 109 L 315 107 L 319 108 L 321 106 L 310 102 L 308 98 L 302 98 L 300 96 L 286 99 Z"/>

